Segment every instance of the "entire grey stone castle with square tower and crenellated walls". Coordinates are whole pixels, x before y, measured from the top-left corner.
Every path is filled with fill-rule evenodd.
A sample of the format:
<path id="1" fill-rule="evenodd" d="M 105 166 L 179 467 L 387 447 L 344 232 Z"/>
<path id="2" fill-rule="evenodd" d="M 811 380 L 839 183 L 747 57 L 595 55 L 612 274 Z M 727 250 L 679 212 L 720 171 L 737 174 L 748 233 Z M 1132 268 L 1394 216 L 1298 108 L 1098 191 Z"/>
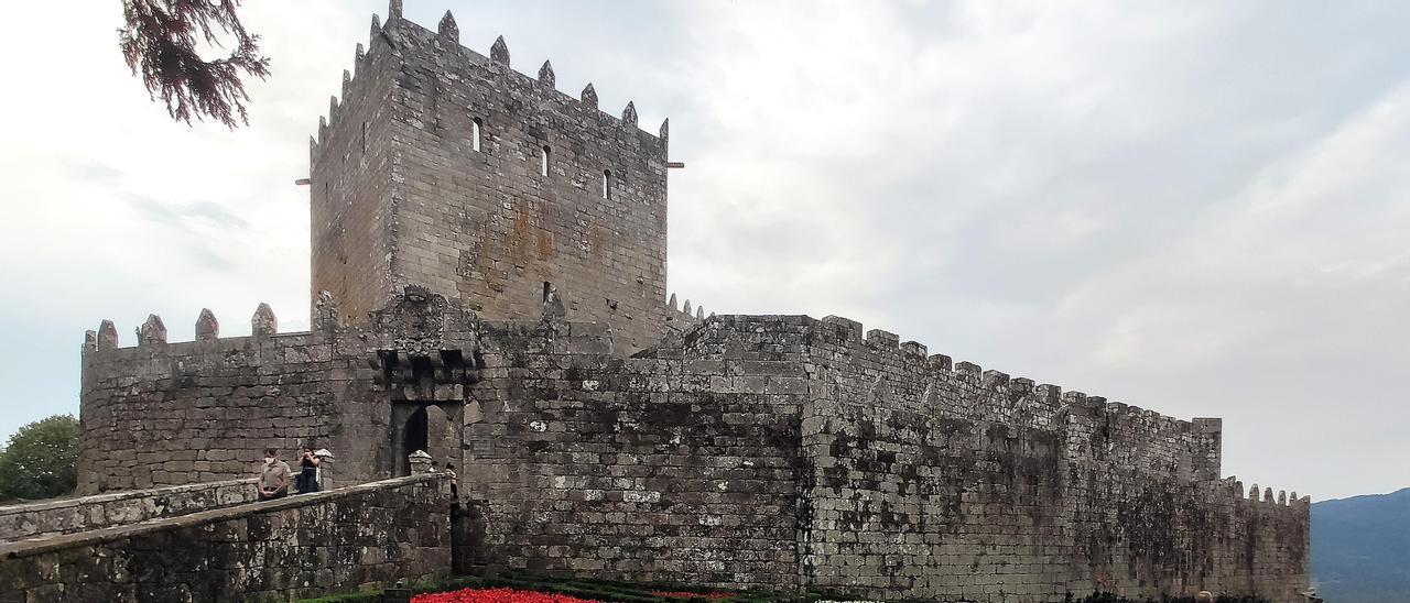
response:
<path id="1" fill-rule="evenodd" d="M 393 0 L 310 142 L 307 332 L 83 349 L 80 493 L 457 465 L 457 565 L 877 597 L 1301 602 L 1308 499 L 1177 420 L 842 317 L 667 302 L 668 137 Z M 252 530 L 252 528 L 251 528 Z"/>

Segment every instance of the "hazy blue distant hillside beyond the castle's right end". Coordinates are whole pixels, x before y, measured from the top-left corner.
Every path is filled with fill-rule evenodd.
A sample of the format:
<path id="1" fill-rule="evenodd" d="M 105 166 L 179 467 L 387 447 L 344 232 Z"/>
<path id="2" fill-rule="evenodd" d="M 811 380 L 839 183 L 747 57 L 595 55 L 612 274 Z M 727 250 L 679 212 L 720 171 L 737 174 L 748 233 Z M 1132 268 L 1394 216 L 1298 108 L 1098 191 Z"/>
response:
<path id="1" fill-rule="evenodd" d="M 1327 603 L 1410 602 L 1410 487 L 1313 503 L 1313 582 Z"/>

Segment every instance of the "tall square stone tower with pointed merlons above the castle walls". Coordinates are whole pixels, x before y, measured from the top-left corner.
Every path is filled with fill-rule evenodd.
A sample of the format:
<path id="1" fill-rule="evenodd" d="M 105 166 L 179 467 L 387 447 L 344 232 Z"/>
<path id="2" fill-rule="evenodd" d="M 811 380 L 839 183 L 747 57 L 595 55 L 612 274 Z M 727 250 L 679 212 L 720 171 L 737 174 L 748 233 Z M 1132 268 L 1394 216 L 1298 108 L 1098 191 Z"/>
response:
<path id="1" fill-rule="evenodd" d="M 666 289 L 667 130 L 637 128 L 437 31 L 372 18 L 355 72 L 310 141 L 313 297 L 351 324 L 405 285 L 458 297 L 485 318 L 536 318 L 550 292 L 567 318 L 612 327 L 619 352 L 670 321 Z M 680 323 L 677 323 L 680 324 Z"/>

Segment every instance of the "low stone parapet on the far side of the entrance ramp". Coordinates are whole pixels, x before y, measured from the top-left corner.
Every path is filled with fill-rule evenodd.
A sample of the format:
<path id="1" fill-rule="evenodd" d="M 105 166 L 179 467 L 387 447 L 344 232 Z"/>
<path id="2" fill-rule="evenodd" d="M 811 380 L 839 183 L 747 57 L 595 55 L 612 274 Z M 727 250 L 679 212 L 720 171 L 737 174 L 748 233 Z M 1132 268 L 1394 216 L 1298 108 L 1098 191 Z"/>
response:
<path id="1" fill-rule="evenodd" d="M 176 517 L 258 499 L 254 478 L 0 507 L 0 542 Z"/>

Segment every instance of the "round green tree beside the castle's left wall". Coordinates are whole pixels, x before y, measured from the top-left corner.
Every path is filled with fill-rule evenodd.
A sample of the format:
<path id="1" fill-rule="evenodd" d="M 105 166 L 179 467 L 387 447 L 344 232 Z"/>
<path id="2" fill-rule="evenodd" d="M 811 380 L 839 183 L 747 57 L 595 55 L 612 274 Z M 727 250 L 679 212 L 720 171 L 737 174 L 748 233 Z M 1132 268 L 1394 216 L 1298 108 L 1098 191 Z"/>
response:
<path id="1" fill-rule="evenodd" d="M 68 495 L 78 486 L 79 421 L 55 414 L 16 431 L 0 451 L 0 500 Z"/>

